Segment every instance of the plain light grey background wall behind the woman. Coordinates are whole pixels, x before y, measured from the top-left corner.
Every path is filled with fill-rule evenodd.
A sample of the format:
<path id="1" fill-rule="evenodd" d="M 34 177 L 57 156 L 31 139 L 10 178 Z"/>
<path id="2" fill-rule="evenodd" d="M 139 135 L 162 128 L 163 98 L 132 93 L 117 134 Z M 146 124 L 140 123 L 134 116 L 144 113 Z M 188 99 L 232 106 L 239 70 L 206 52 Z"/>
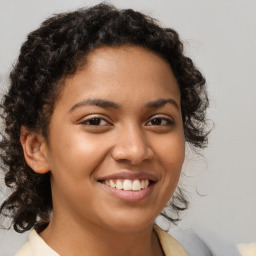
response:
<path id="1" fill-rule="evenodd" d="M 1 91 L 26 35 L 53 13 L 100 1 L 0 0 Z M 180 34 L 207 78 L 214 121 L 204 157 L 188 154 L 183 185 L 190 210 L 180 223 L 206 240 L 256 241 L 256 2 L 254 0 L 119 0 Z M 5 190 L 0 176 L 0 202 Z M 198 195 L 201 194 L 202 196 Z M 0 255 L 12 255 L 27 234 L 0 230 Z"/>

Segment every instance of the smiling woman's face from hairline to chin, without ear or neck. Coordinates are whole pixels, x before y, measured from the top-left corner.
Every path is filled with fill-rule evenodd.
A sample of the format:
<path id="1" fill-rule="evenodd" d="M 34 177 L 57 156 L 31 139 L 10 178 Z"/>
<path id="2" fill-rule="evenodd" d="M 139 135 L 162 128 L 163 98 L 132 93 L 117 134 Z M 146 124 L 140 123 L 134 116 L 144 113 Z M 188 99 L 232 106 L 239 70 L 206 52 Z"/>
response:
<path id="1" fill-rule="evenodd" d="M 169 64 L 136 46 L 102 47 L 66 79 L 49 127 L 54 215 L 134 231 L 152 225 L 184 160 Z"/>

